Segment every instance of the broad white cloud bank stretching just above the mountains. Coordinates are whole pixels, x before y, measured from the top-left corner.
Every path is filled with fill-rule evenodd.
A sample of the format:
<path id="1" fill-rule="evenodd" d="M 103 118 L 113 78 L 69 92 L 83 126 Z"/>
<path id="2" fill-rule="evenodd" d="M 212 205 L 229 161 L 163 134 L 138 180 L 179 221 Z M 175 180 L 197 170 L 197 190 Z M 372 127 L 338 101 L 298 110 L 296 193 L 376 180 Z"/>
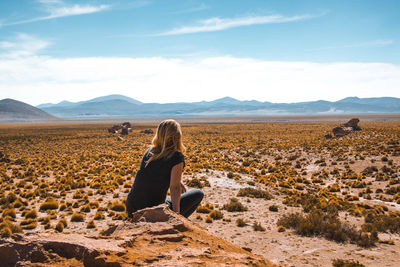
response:
<path id="1" fill-rule="evenodd" d="M 313 63 L 211 57 L 0 60 L 0 99 L 30 104 L 119 93 L 143 102 L 231 96 L 271 102 L 400 97 L 400 67 L 385 63 Z"/>

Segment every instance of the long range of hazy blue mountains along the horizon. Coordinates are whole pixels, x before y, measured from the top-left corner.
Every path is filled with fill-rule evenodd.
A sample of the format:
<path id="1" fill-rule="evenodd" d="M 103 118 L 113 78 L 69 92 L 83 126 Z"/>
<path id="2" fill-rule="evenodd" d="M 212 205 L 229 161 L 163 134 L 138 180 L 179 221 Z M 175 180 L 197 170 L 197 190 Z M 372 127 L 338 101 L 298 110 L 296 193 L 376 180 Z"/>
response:
<path id="1" fill-rule="evenodd" d="M 400 113 L 400 98 L 348 97 L 336 102 L 318 100 L 298 103 L 240 101 L 224 97 L 213 101 L 180 103 L 142 103 L 122 95 L 109 95 L 77 103 L 42 104 L 44 111 L 69 119 L 128 118 L 165 116 L 268 116 L 322 114 Z"/>

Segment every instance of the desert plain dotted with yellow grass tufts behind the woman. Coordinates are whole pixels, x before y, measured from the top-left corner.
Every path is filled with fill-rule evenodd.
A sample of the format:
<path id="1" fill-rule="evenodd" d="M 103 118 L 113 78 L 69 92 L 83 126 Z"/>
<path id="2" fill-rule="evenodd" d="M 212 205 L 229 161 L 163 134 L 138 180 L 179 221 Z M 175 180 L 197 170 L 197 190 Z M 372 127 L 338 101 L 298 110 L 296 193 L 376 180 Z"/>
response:
<path id="1" fill-rule="evenodd" d="M 400 117 L 324 138 L 350 118 L 182 119 L 183 182 L 205 193 L 190 220 L 278 265 L 399 266 Z M 0 125 L 2 240 L 126 220 L 158 124 L 130 122 L 121 138 L 110 122 Z"/>

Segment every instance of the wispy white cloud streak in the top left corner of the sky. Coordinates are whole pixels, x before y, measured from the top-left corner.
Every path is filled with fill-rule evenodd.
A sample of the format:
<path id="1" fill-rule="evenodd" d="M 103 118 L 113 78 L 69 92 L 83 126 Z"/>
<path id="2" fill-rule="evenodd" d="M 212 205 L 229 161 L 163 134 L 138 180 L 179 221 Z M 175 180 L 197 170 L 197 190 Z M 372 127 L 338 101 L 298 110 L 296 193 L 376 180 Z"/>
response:
<path id="1" fill-rule="evenodd" d="M 110 8 L 110 5 L 81 5 L 81 4 L 66 5 L 61 0 L 37 0 L 37 2 L 39 2 L 42 5 L 42 8 L 47 13 L 46 16 L 3 23 L 2 26 L 19 25 L 35 21 L 91 14 Z"/>

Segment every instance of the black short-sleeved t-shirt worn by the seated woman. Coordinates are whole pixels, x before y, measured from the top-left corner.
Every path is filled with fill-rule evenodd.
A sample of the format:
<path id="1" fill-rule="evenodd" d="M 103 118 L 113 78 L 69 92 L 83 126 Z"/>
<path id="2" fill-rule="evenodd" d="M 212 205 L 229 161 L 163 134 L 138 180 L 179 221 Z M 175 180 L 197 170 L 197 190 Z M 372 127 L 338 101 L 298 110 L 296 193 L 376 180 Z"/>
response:
<path id="1" fill-rule="evenodd" d="M 183 162 L 185 157 L 181 152 L 175 152 L 169 159 L 157 159 L 147 166 L 151 153 L 150 148 L 142 158 L 128 199 L 134 210 L 152 207 L 165 202 L 169 189 L 172 167 Z"/>

